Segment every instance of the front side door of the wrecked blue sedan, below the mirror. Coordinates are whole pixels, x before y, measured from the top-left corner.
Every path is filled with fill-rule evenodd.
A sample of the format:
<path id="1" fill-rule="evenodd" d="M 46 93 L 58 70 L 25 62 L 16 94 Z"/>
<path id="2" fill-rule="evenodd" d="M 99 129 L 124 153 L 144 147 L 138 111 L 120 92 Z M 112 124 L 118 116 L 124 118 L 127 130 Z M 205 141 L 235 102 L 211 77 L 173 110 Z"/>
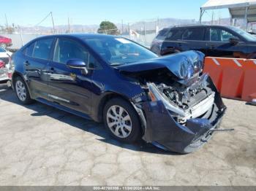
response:
<path id="1" fill-rule="evenodd" d="M 53 61 L 49 64 L 49 97 L 55 103 L 78 112 L 91 112 L 91 72 L 70 69 L 67 61 L 81 59 L 89 63 L 86 47 L 75 39 L 60 37 L 56 40 Z"/>

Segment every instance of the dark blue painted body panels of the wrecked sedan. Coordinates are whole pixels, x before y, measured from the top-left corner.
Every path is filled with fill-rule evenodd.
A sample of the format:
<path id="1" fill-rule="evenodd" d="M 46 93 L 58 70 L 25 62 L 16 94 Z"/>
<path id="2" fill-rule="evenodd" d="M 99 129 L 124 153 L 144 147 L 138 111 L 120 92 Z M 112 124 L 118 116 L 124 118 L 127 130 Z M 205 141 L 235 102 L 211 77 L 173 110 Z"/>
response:
<path id="1" fill-rule="evenodd" d="M 31 58 L 26 55 L 26 49 L 31 44 L 39 39 L 49 38 L 53 39 L 49 59 Z M 145 82 L 139 79 L 145 73 L 154 77 L 154 74 L 156 74 L 154 72 L 163 69 L 167 71 L 167 75 L 171 75 L 171 80 L 176 80 L 177 83 L 185 84 L 186 80 L 193 82 L 194 79 L 197 80 L 203 69 L 203 53 L 189 51 L 162 58 L 156 58 L 157 55 L 154 55 L 154 58 L 151 59 L 124 63 L 122 66 L 110 66 L 108 60 L 103 59 L 100 52 L 96 52 L 86 44 L 85 39 L 90 38 L 116 39 L 117 37 L 98 34 L 43 36 L 29 42 L 15 53 L 13 56 L 15 74 L 25 79 L 31 98 L 65 112 L 101 122 L 104 101 L 109 95 L 121 96 L 127 101 L 133 102 L 133 104 L 135 104 L 135 98 L 139 96 L 140 106 L 146 115 L 147 121 L 143 139 L 154 143 L 158 147 L 175 152 L 189 152 L 187 147 L 195 139 L 200 140 L 200 136 L 204 136 L 209 129 L 214 127 L 215 124 L 210 123 L 219 124 L 221 121 L 222 117 L 217 115 L 221 115 L 218 113 L 219 111 L 224 113 L 225 106 L 210 78 L 208 80 L 211 90 L 216 93 L 214 104 L 217 107 L 215 107 L 216 111 L 214 110 L 214 112 L 217 115 L 213 114 L 210 120 L 188 120 L 187 125 L 178 124 L 161 101 L 150 104 L 146 91 L 142 87 Z M 56 47 L 56 42 L 59 42 L 59 39 L 69 39 L 78 43 L 94 58 L 93 65 L 95 67 L 88 67 L 88 73 L 85 73 L 81 68 L 85 65 L 89 66 L 86 61 L 73 58 L 67 63 L 56 62 L 56 59 L 53 59 L 54 47 Z M 140 48 L 143 51 L 148 51 L 143 47 Z M 147 73 L 147 71 L 151 72 Z M 189 84 L 186 82 L 186 85 Z M 200 128 L 201 126 L 203 128 Z"/>

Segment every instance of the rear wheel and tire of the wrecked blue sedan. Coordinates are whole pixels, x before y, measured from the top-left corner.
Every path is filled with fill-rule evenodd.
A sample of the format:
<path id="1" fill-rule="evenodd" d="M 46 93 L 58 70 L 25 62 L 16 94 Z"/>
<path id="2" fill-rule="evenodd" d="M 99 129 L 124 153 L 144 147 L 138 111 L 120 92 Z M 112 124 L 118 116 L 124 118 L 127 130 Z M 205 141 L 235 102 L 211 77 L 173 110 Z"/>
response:
<path id="1" fill-rule="evenodd" d="M 33 103 L 33 100 L 31 99 L 31 97 L 29 95 L 28 87 L 26 86 L 26 83 L 24 82 L 24 80 L 21 77 L 15 78 L 14 90 L 15 90 L 15 94 L 16 94 L 18 100 L 22 104 L 28 105 L 28 104 Z"/>

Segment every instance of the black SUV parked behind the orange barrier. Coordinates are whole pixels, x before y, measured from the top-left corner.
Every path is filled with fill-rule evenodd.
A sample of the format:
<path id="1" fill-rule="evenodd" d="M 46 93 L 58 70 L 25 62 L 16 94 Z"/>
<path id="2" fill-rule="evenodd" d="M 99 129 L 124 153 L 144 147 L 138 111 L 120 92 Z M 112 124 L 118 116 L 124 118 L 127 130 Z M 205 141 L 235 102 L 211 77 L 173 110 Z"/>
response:
<path id="1" fill-rule="evenodd" d="M 233 26 L 164 28 L 151 44 L 158 55 L 198 50 L 206 56 L 256 58 L 256 37 Z"/>

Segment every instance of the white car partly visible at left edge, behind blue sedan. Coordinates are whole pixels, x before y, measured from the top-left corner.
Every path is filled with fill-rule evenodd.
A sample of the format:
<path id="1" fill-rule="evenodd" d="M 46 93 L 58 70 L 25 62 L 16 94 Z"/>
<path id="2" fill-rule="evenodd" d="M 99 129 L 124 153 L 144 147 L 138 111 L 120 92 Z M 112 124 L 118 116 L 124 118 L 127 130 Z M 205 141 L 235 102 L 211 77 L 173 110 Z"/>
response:
<path id="1" fill-rule="evenodd" d="M 11 56 L 12 52 L 0 47 L 0 82 L 7 81 L 9 87 L 12 79 Z"/>

